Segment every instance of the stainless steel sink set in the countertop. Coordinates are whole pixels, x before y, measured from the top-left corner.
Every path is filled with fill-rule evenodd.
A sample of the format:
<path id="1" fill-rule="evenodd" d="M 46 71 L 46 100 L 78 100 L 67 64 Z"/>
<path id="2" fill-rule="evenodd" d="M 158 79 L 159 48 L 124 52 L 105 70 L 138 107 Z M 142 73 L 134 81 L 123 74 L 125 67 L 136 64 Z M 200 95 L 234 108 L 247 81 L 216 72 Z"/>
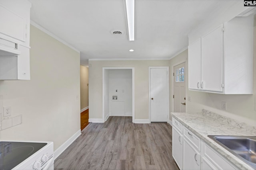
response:
<path id="1" fill-rule="evenodd" d="M 208 135 L 208 137 L 256 169 L 256 136 Z"/>

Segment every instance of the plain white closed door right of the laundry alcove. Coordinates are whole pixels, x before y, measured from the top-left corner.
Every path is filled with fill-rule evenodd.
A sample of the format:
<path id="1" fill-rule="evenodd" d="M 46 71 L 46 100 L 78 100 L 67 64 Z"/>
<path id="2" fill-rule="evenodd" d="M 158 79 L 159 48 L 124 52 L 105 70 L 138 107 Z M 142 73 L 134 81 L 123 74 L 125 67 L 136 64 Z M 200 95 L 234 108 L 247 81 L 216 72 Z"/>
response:
<path id="1" fill-rule="evenodd" d="M 150 121 L 166 122 L 169 68 L 150 68 Z"/>

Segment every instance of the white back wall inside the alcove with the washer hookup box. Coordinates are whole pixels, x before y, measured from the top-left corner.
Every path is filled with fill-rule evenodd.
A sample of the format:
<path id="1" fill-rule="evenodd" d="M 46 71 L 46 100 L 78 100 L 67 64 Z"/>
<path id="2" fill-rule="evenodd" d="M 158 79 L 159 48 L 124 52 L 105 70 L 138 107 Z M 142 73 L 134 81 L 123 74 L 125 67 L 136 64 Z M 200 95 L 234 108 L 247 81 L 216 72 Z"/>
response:
<path id="1" fill-rule="evenodd" d="M 118 101 L 112 100 L 113 95 Z M 132 116 L 132 69 L 109 70 L 109 112 L 112 116 Z"/>

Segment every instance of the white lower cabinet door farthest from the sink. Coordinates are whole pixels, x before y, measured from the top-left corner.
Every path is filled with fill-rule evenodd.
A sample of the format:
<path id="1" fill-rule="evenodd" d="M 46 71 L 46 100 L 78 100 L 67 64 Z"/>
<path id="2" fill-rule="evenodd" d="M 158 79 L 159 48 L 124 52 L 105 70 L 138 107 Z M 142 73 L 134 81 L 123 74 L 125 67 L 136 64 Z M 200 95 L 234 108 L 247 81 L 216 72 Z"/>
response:
<path id="1" fill-rule="evenodd" d="M 175 127 L 172 127 L 172 157 L 182 169 L 182 135 Z"/>

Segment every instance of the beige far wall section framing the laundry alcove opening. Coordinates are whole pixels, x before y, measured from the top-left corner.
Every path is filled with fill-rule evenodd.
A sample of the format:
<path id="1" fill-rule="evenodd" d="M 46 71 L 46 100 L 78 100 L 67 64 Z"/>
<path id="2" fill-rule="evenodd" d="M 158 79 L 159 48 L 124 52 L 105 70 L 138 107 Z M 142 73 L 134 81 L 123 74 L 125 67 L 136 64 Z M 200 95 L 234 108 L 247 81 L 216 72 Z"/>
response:
<path id="1" fill-rule="evenodd" d="M 89 60 L 89 106 L 90 119 L 102 119 L 102 67 L 134 67 L 135 119 L 149 119 L 148 113 L 148 67 L 169 66 L 170 60 Z M 106 115 L 106 113 L 105 113 Z"/>

